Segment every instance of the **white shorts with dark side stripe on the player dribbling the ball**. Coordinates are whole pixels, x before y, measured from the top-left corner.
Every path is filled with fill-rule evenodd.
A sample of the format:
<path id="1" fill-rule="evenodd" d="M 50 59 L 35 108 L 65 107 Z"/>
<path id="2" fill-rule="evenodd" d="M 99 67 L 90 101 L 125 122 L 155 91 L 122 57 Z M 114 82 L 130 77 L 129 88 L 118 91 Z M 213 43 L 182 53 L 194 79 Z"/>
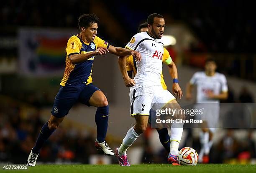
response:
<path id="1" fill-rule="evenodd" d="M 149 115 L 151 108 L 163 108 L 175 97 L 162 86 L 133 86 L 130 88 L 131 116 Z"/>

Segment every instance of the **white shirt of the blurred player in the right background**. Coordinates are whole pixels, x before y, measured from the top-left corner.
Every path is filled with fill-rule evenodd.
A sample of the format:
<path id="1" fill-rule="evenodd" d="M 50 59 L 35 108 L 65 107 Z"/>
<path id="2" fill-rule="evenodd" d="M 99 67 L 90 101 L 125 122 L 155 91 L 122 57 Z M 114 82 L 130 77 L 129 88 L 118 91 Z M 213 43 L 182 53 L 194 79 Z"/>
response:
<path id="1" fill-rule="evenodd" d="M 207 93 L 220 94 L 228 91 L 225 75 L 217 72 L 213 76 L 207 76 L 205 72 L 197 72 L 190 83 L 197 85 L 197 103 L 220 103 L 220 100 L 207 98 Z"/>

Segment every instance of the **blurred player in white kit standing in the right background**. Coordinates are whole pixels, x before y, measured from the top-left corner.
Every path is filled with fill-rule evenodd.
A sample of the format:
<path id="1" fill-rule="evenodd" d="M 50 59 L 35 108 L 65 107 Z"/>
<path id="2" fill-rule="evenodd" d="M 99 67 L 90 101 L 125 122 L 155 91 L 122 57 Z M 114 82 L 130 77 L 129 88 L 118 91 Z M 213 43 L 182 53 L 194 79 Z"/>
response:
<path id="1" fill-rule="evenodd" d="M 192 88 L 197 86 L 197 104 L 195 108 L 204 108 L 200 133 L 201 150 L 199 162 L 208 163 L 212 146 L 212 136 L 218 125 L 220 100 L 228 98 L 228 86 L 225 75 L 215 72 L 215 60 L 209 58 L 205 63 L 205 71 L 195 73 L 187 84 L 186 98 L 192 98 Z M 201 104 L 200 104 L 201 103 Z M 197 117 L 196 117 L 197 118 Z"/>

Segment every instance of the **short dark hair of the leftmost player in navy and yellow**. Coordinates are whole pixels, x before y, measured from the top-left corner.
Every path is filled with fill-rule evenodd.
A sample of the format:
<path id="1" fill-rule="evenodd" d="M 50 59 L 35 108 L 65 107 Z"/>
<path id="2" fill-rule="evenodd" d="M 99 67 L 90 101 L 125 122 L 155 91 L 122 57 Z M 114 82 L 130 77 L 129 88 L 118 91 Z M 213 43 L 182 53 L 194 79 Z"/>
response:
<path id="1" fill-rule="evenodd" d="M 78 26 L 81 31 L 81 27 L 88 28 L 90 25 L 100 23 L 100 19 L 95 14 L 83 14 L 78 18 Z"/>

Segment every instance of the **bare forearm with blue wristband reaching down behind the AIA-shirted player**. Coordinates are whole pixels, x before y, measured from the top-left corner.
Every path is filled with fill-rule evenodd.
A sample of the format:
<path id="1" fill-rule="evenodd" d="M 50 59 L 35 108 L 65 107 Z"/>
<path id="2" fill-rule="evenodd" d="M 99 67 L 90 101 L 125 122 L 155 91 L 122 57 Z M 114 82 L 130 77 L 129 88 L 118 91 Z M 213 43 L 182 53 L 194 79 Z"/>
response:
<path id="1" fill-rule="evenodd" d="M 181 99 L 181 97 L 183 96 L 182 94 L 182 90 L 181 88 L 179 87 L 179 83 L 177 82 L 178 80 L 178 71 L 177 71 L 177 67 L 176 65 L 174 64 L 174 62 L 170 63 L 168 65 L 168 68 L 169 68 L 169 73 L 172 77 L 172 79 L 176 79 L 174 80 L 173 84 L 172 84 L 172 92 L 176 95 L 176 98 L 179 97 L 179 99 Z"/>

